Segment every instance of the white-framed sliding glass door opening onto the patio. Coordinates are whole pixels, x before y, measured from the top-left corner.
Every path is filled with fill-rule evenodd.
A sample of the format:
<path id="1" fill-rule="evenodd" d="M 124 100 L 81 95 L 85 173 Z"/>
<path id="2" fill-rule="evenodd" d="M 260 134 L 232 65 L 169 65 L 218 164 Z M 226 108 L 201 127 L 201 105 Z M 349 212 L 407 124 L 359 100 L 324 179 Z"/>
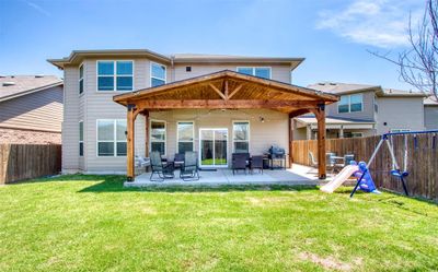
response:
<path id="1" fill-rule="evenodd" d="M 227 167 L 228 129 L 199 129 L 201 167 Z"/>

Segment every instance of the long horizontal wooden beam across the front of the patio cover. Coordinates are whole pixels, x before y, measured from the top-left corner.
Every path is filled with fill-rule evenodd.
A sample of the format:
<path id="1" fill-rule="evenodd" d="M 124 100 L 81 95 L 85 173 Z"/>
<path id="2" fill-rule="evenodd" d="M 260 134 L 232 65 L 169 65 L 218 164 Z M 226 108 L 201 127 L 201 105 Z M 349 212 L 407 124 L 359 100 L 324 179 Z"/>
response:
<path id="1" fill-rule="evenodd" d="M 162 100 L 139 100 L 136 103 L 138 109 L 178 109 L 178 108 L 207 108 L 207 109 L 221 109 L 221 108 L 301 108 L 308 113 L 310 109 L 316 107 L 316 102 L 308 100 L 223 100 L 223 99 L 162 99 Z"/>

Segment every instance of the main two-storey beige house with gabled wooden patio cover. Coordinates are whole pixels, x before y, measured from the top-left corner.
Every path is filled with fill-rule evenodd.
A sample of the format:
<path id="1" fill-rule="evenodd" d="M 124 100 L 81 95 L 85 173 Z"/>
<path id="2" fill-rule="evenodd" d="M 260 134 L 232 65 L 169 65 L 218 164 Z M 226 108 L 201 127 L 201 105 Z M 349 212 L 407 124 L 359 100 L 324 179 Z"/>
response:
<path id="1" fill-rule="evenodd" d="M 194 150 L 201 167 L 229 167 L 233 152 L 264 154 L 272 145 L 288 152 L 291 117 L 322 116 L 323 105 L 337 100 L 291 85 L 302 58 L 136 49 L 80 50 L 48 61 L 65 73 L 65 173 L 128 169 L 129 179 L 130 154 L 149 151 L 172 159 Z"/>

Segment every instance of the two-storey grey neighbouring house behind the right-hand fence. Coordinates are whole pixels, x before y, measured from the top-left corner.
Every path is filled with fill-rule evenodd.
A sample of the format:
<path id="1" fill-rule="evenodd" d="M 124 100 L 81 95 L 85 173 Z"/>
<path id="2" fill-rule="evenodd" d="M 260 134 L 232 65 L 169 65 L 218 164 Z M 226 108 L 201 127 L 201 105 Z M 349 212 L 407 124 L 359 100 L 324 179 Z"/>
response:
<path id="1" fill-rule="evenodd" d="M 332 82 L 309 87 L 341 96 L 339 102 L 326 109 L 327 138 L 425 129 L 423 99 L 426 95 L 423 93 Z M 314 139 L 315 125 L 312 116 L 296 118 L 295 139 Z"/>

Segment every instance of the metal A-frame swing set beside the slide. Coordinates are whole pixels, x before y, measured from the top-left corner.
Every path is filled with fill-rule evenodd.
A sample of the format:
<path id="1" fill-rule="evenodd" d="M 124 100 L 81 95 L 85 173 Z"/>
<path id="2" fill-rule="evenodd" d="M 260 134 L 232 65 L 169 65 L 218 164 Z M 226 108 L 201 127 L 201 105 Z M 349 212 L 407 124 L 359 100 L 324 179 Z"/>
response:
<path id="1" fill-rule="evenodd" d="M 349 194 L 350 198 L 353 198 L 353 196 L 355 194 L 355 192 L 357 191 L 357 189 L 359 188 L 360 182 L 362 181 L 365 175 L 367 172 L 369 172 L 369 166 L 371 165 L 372 161 L 374 161 L 377 153 L 379 152 L 380 147 L 383 145 L 383 143 L 387 143 L 388 150 L 390 151 L 391 154 L 391 161 L 392 161 L 392 169 L 390 172 L 390 174 L 396 178 L 400 179 L 400 181 L 402 182 L 403 186 L 403 190 L 404 193 L 406 196 L 408 196 L 407 192 L 407 186 L 406 186 L 406 177 L 410 175 L 407 172 L 407 156 L 408 156 L 408 146 L 407 146 L 407 135 L 408 134 L 414 134 L 414 147 L 417 149 L 418 147 L 418 142 L 417 142 L 417 134 L 426 134 L 426 133 L 433 133 L 433 142 L 431 142 L 431 147 L 435 149 L 436 147 L 436 138 L 437 138 L 437 133 L 438 130 L 426 130 L 426 131 L 408 131 L 408 132 L 391 132 L 391 133 L 385 133 L 382 134 L 382 138 L 380 139 L 378 145 L 376 146 L 374 151 L 372 152 L 372 155 L 369 159 L 369 162 L 367 163 L 367 167 L 365 168 L 365 170 L 362 172 L 362 175 L 360 176 L 360 178 L 357 179 L 356 186 L 353 189 L 351 193 Z M 400 168 L 395 155 L 394 155 L 394 149 L 393 149 L 393 141 L 392 141 L 392 137 L 393 135 L 404 135 L 404 156 L 403 156 L 403 170 Z"/>

